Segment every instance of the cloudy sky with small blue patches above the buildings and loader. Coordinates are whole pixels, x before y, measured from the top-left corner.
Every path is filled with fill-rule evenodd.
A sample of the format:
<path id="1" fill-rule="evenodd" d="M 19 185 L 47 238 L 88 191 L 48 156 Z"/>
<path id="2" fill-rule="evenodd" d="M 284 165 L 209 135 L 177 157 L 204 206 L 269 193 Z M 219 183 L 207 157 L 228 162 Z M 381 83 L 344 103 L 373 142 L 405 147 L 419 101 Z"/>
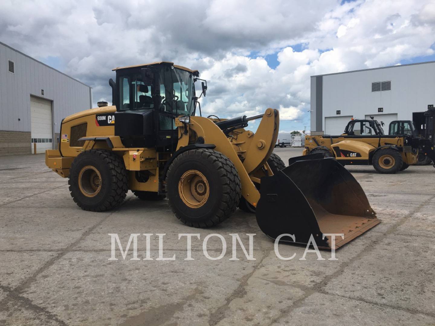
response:
<path id="1" fill-rule="evenodd" d="M 93 87 L 94 103 L 110 102 L 112 68 L 174 61 L 207 79 L 204 114 L 278 108 L 283 131 L 309 125 L 311 75 L 433 55 L 434 27 L 434 0 L 3 0 L 0 9 L 0 40 L 58 58 Z"/>

